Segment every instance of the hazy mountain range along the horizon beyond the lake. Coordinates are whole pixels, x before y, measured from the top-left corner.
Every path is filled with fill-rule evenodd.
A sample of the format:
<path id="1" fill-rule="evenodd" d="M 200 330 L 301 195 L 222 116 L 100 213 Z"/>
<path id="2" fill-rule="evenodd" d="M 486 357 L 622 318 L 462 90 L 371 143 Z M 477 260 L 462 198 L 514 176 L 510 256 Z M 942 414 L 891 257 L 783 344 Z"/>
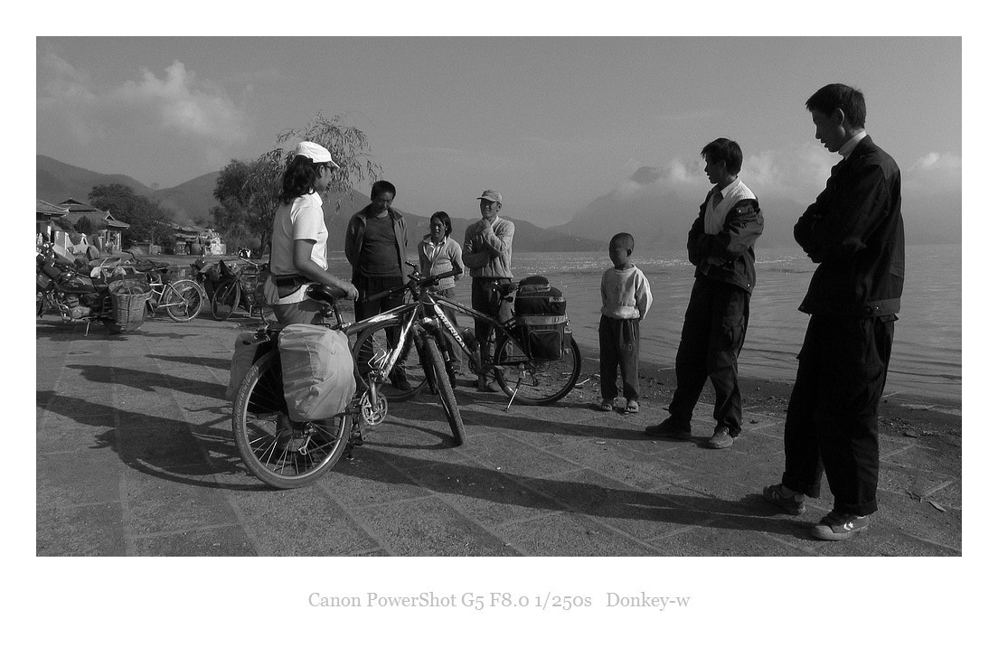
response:
<path id="1" fill-rule="evenodd" d="M 121 183 L 131 186 L 176 213 L 178 224 L 210 226 L 209 209 L 217 204 L 212 195 L 218 172 L 195 177 L 170 188 L 149 187 L 124 174 L 105 174 L 36 156 L 36 196 L 58 204 L 68 197 L 81 201 L 96 184 Z M 607 241 L 619 231 L 630 231 L 642 250 L 684 249 L 690 224 L 710 186 L 706 178 L 701 189 L 677 188 L 668 181 L 668 170 L 644 166 L 622 184 L 622 188 L 596 197 L 576 212 L 566 224 L 542 228 L 526 220 L 516 223 L 514 249 L 519 251 L 605 251 Z M 765 218 L 765 231 L 758 247 L 793 245 L 793 223 L 805 203 L 776 194 L 758 194 Z M 340 204 L 336 208 L 336 202 Z M 331 240 L 345 234 L 347 215 L 368 202 L 367 196 L 353 190 L 349 194 L 327 196 L 323 202 Z M 904 220 L 910 242 L 960 242 L 961 196 L 959 189 L 937 194 L 905 196 Z M 430 214 L 404 212 L 411 241 L 428 228 Z M 472 220 L 453 217 L 454 237 L 460 239 Z"/>

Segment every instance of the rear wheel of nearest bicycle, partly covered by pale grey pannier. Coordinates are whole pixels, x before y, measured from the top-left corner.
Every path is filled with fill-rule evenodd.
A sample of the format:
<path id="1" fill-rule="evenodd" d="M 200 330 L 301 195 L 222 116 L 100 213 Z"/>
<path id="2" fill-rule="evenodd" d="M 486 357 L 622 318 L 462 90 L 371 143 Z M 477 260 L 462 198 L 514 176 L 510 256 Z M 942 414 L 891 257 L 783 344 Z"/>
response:
<path id="1" fill-rule="evenodd" d="M 280 360 L 256 360 L 233 403 L 233 435 L 250 474 L 266 485 L 309 485 L 336 465 L 349 442 L 347 415 L 309 423 L 287 417 Z"/>

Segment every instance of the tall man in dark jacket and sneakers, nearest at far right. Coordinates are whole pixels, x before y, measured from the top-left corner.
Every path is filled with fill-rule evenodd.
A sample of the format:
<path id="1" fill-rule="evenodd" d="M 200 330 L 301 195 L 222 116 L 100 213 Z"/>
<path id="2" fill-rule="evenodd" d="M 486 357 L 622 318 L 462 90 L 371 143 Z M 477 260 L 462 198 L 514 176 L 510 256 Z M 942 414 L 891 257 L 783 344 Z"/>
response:
<path id="1" fill-rule="evenodd" d="M 785 471 L 762 495 L 800 514 L 823 466 L 835 502 L 811 534 L 838 540 L 869 528 L 877 509 L 877 407 L 904 284 L 901 174 L 866 135 L 861 92 L 832 84 L 805 106 L 814 137 L 842 160 L 793 227 L 818 266 L 800 305 L 810 321 L 786 411 Z"/>

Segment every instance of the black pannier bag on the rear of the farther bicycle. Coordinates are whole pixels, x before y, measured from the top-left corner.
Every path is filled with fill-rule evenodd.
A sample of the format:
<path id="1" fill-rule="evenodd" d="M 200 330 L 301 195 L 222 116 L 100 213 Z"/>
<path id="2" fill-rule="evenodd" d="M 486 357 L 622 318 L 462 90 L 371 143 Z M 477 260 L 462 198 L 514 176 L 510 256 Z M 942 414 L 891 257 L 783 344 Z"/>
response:
<path id="1" fill-rule="evenodd" d="M 561 290 L 551 287 L 543 276 L 520 281 L 513 310 L 520 339 L 534 359 L 560 360 L 564 348 L 571 344 L 565 307 Z"/>

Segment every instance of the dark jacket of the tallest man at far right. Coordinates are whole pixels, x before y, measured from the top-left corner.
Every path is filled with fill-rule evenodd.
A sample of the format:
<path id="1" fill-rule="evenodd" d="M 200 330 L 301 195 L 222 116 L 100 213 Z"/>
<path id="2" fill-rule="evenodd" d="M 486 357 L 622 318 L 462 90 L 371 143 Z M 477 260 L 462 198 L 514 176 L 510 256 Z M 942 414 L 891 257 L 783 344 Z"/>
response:
<path id="1" fill-rule="evenodd" d="M 901 171 L 869 137 L 832 167 L 824 190 L 793 226 L 793 237 L 818 263 L 801 311 L 879 317 L 900 310 Z"/>

